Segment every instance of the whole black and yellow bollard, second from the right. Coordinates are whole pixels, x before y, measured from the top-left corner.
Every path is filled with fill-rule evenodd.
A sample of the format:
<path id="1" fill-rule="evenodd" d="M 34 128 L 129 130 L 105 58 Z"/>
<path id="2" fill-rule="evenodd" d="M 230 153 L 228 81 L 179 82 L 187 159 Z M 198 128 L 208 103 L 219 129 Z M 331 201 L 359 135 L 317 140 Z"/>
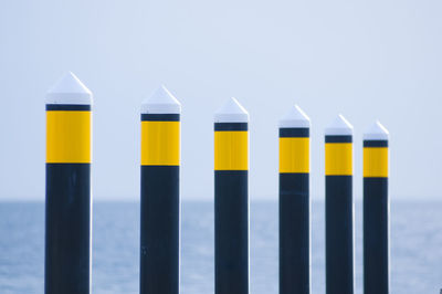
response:
<path id="1" fill-rule="evenodd" d="M 354 293 L 352 126 L 339 115 L 325 130 L 326 293 Z"/>

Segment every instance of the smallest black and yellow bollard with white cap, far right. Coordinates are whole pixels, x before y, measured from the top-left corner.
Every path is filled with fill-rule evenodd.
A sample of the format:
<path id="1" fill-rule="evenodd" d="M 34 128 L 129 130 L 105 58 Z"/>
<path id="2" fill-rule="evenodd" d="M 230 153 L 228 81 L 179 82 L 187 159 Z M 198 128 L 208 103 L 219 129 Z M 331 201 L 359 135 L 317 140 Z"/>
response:
<path id="1" fill-rule="evenodd" d="M 389 293 L 388 130 L 364 134 L 364 293 Z"/>

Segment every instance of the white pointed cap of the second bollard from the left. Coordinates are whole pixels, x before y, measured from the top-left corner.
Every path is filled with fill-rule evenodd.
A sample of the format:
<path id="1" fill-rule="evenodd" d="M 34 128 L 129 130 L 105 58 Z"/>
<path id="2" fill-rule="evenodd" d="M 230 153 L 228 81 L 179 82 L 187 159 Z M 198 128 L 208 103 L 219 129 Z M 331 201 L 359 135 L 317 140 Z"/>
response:
<path id="1" fill-rule="evenodd" d="M 180 114 L 181 104 L 164 85 L 143 101 L 141 114 Z"/>

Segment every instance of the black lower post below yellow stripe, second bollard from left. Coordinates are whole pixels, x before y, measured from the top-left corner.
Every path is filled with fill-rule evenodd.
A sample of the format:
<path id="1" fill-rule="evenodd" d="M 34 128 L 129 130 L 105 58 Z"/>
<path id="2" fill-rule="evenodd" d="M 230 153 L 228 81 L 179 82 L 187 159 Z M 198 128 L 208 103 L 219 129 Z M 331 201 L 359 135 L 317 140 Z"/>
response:
<path id="1" fill-rule="evenodd" d="M 141 166 L 140 294 L 179 293 L 179 166 Z"/>

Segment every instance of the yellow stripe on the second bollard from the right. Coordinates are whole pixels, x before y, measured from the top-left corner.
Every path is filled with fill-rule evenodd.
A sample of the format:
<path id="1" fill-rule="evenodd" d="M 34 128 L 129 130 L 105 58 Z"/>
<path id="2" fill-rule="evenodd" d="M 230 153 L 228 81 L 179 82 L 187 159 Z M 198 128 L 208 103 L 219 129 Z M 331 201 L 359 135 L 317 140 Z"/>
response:
<path id="1" fill-rule="evenodd" d="M 352 144 L 327 143 L 325 145 L 325 175 L 352 175 Z"/>

